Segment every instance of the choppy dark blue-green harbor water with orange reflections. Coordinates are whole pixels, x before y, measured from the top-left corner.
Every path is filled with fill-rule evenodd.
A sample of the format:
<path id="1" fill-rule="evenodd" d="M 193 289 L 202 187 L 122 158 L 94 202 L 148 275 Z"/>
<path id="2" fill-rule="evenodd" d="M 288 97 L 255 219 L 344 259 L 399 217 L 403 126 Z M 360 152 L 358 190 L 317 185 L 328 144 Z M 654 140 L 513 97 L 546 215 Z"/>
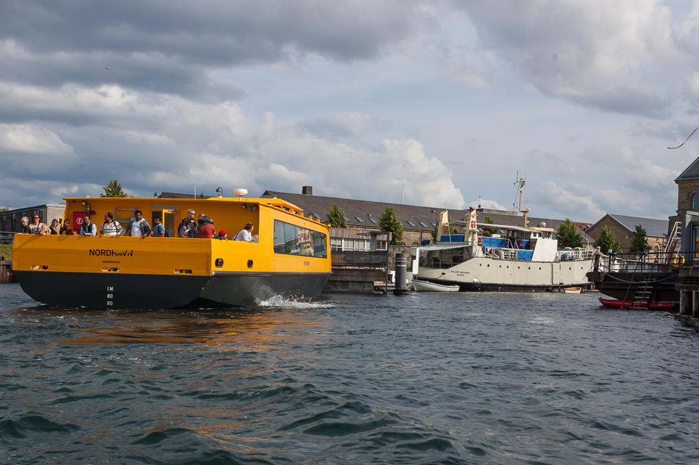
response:
<path id="1" fill-rule="evenodd" d="M 699 333 L 595 294 L 50 309 L 0 286 L 0 462 L 699 461 Z"/>

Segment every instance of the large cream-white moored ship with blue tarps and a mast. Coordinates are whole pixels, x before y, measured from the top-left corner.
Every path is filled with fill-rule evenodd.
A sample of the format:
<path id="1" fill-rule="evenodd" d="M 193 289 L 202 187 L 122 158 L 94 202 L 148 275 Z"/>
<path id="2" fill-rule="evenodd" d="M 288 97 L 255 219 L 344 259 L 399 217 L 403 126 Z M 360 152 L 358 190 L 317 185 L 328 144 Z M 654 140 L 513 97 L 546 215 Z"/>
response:
<path id="1" fill-rule="evenodd" d="M 521 185 L 524 185 L 524 181 Z M 461 290 L 553 291 L 565 287 L 590 285 L 586 273 L 593 270 L 594 250 L 558 250 L 553 228 L 506 224 L 477 224 L 471 208 L 468 221 L 449 223 L 442 211 L 438 242 L 418 248 L 419 269 L 416 278 L 459 285 Z M 461 226 L 465 234 L 450 234 L 450 227 Z M 500 234 L 479 236 L 479 227 Z"/>

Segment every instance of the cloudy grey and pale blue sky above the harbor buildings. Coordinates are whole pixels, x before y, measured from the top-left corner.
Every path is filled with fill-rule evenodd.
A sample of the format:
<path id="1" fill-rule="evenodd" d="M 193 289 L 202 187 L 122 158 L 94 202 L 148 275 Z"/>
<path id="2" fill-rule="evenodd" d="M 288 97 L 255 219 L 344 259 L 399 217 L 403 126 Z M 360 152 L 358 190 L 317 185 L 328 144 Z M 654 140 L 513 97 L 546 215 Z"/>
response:
<path id="1" fill-rule="evenodd" d="M 699 1 L 0 2 L 0 204 L 245 187 L 666 219 Z"/>

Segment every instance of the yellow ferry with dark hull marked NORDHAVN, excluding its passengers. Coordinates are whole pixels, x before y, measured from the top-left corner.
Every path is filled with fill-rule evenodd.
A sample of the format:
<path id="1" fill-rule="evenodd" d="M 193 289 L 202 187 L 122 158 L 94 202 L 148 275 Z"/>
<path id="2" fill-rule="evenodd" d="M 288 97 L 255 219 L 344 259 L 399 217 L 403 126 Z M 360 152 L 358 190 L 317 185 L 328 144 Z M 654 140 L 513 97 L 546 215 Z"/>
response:
<path id="1" fill-rule="evenodd" d="M 76 234 L 89 213 L 126 228 L 135 210 L 160 217 L 166 237 L 17 234 L 13 271 L 32 299 L 55 306 L 177 308 L 255 306 L 278 295 L 318 296 L 331 274 L 329 226 L 281 199 L 67 198 Z M 247 222 L 256 242 L 178 238 L 187 210 L 231 237 Z M 63 224 L 63 222 L 61 223 Z"/>

